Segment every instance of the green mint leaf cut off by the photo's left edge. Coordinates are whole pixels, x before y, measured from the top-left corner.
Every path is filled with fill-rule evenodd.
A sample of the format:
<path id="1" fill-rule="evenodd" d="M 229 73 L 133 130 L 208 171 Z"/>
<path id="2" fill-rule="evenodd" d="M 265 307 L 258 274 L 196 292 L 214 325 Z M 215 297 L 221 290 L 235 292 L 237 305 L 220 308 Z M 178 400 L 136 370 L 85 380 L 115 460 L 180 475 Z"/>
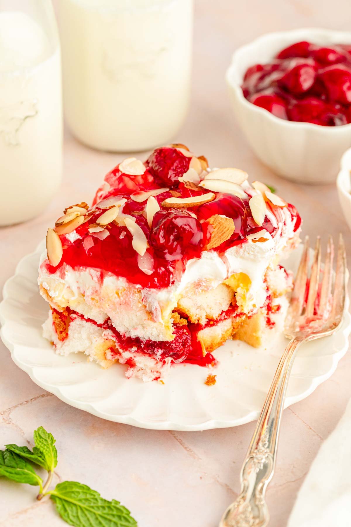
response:
<path id="1" fill-rule="evenodd" d="M 35 473 L 32 465 L 10 450 L 0 450 L 0 476 L 18 483 L 39 485 L 42 490 L 43 480 Z"/>

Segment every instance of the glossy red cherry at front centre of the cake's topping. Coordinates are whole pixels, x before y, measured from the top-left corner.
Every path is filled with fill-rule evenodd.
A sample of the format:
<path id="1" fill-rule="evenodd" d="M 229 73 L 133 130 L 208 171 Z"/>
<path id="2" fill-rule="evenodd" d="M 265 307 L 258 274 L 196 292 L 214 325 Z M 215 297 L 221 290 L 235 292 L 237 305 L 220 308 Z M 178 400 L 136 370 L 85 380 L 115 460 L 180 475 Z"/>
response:
<path id="1" fill-rule="evenodd" d="M 199 256 L 204 245 L 202 227 L 197 218 L 181 209 L 159 210 L 156 212 L 150 245 L 162 251 L 169 260 L 188 259 Z"/>

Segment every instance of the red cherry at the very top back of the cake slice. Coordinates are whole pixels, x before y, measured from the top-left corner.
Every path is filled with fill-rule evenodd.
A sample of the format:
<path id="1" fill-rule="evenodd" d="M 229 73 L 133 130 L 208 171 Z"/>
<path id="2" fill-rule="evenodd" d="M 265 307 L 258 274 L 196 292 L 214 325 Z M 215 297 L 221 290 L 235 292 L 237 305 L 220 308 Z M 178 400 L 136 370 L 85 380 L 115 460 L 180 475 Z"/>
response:
<path id="1" fill-rule="evenodd" d="M 189 168 L 191 158 L 179 152 L 176 148 L 156 148 L 146 161 L 146 166 L 154 178 L 167 187 L 176 187 L 179 176 Z"/>

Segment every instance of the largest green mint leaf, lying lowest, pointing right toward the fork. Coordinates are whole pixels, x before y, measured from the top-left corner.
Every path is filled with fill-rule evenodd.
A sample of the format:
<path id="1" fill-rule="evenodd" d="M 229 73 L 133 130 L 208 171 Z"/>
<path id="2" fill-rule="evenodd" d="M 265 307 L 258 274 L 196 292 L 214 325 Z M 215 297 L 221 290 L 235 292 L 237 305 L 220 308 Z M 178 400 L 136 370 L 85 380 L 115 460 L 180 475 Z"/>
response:
<path id="1" fill-rule="evenodd" d="M 74 527 L 137 526 L 128 509 L 118 501 L 104 500 L 98 492 L 82 483 L 64 481 L 49 494 L 61 518 Z"/>

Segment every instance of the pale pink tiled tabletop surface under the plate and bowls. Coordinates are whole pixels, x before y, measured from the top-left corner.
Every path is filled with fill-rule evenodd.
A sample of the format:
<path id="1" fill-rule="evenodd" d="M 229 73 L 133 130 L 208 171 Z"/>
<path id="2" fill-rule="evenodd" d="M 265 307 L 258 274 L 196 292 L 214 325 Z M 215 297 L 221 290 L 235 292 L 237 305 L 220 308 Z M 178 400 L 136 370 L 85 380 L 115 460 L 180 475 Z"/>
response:
<path id="1" fill-rule="evenodd" d="M 264 32 L 299 26 L 347 30 L 347 17 L 340 16 L 347 7 L 346 0 L 336 0 L 332 11 L 326 0 L 318 6 L 313 0 L 272 0 L 264 7 L 258 0 L 236 7 L 230 0 L 197 0 L 192 105 L 175 140 L 205 154 L 212 166 L 243 168 L 251 180 L 272 184 L 296 204 L 304 218 L 303 232 L 312 238 L 320 234 L 325 241 L 327 233 L 336 237 L 343 232 L 351 261 L 351 233 L 334 185 L 296 186 L 265 168 L 240 135 L 223 80 L 238 45 Z M 63 208 L 91 200 L 105 173 L 123 157 L 89 150 L 66 131 L 64 184 L 55 200 L 35 220 L 0 230 L 1 286 Z M 142 154 L 142 159 L 145 157 Z M 235 499 L 254 423 L 232 430 L 185 433 L 147 431 L 102 421 L 43 393 L 13 364 L 3 344 L 0 353 L 2 443 L 28 444 L 34 428 L 45 426 L 57 437 L 56 480 L 82 481 L 104 497 L 121 500 L 140 527 L 213 527 Z M 351 396 L 350 376 L 348 354 L 332 378 L 284 412 L 276 474 L 267 493 L 271 527 L 286 525 L 310 463 Z M 34 496 L 33 487 L 2 480 L 0 525 L 64 525 L 50 503 L 35 502 Z"/>

